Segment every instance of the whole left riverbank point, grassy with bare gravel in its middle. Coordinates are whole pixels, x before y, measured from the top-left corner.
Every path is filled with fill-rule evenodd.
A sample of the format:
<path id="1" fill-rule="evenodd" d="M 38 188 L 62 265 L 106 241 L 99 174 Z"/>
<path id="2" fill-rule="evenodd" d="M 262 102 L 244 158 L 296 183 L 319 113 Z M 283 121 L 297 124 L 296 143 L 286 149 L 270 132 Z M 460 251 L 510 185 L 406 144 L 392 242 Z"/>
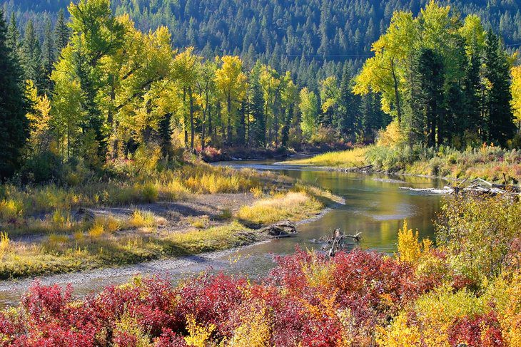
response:
<path id="1" fill-rule="evenodd" d="M 183 169 L 185 175 L 189 170 Z M 268 234 L 260 231 L 262 227 L 283 219 L 307 219 L 338 202 L 329 192 L 267 172 L 208 165 L 191 170 L 193 175 L 181 180 L 140 183 L 156 189 L 151 202 L 88 204 L 84 195 L 82 204 L 64 198 L 64 207 L 54 207 L 51 202 L 35 205 L 31 202 L 41 199 L 49 187 L 37 188 L 33 195 L 9 187 L 11 193 L 4 198 L 4 214 L 0 214 L 4 231 L 0 279 L 86 271 L 240 247 L 268 239 Z M 182 194 L 166 199 L 161 192 L 164 187 Z M 74 190 L 64 192 L 77 194 Z M 16 206 L 32 209 L 19 208 L 17 212 Z M 9 208 L 11 213 L 7 213 Z"/>

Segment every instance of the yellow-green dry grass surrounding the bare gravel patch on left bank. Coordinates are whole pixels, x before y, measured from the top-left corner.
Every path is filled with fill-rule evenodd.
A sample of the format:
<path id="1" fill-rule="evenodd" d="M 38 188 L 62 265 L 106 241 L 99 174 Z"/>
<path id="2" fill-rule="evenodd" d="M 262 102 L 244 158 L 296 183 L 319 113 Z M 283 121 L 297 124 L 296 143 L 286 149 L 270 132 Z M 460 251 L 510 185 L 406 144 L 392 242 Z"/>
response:
<path id="1" fill-rule="evenodd" d="M 0 187 L 0 227 L 6 234 L 0 235 L 0 279 L 132 264 L 251 243 L 257 239 L 256 234 L 234 221 L 231 209 L 221 210 L 213 221 L 208 216 L 193 217 L 188 219 L 193 228 L 168 233 L 150 232 L 165 222 L 150 211 L 136 210 L 128 220 L 103 216 L 80 221 L 71 217 L 71 210 L 182 200 L 200 193 L 253 192 L 261 197 L 280 182 L 285 186 L 294 183 L 268 172 L 186 164 L 140 177 L 121 175 L 121 179 L 108 182 L 84 182 L 67 190 L 55 185 L 4 185 Z M 323 206 L 318 199 L 327 192 L 299 185 L 294 189 L 287 195 L 276 193 L 244 207 L 239 218 L 268 224 L 278 219 L 308 217 Z M 121 229 L 129 230 L 116 233 Z M 8 235 L 16 235 L 16 242 L 11 242 Z M 28 235 L 30 238 L 24 238 Z"/>

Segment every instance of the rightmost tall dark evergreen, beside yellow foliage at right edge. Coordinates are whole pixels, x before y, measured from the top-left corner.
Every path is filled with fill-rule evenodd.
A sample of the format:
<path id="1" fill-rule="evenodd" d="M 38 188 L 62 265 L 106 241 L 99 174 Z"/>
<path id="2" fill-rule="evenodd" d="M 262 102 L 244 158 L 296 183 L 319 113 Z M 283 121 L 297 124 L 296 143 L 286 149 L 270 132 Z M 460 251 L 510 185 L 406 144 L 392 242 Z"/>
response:
<path id="1" fill-rule="evenodd" d="M 502 49 L 500 38 L 487 32 L 485 41 L 485 78 L 490 83 L 487 91 L 487 140 L 505 145 L 515 133 L 514 115 L 510 102 L 510 64 Z"/>

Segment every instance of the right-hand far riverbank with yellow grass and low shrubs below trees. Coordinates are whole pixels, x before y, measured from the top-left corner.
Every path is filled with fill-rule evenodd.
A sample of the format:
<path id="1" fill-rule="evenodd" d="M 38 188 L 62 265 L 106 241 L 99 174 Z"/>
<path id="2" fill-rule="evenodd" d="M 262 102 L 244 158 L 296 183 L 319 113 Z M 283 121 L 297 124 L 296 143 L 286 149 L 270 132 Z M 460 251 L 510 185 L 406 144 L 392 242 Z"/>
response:
<path id="1" fill-rule="evenodd" d="M 521 151 L 500 147 L 457 151 L 450 148 L 410 153 L 408 148 L 372 145 L 340 152 L 328 152 L 286 165 L 311 165 L 325 170 L 380 172 L 393 175 L 415 175 L 445 180 L 474 180 L 517 184 L 521 180 Z"/>

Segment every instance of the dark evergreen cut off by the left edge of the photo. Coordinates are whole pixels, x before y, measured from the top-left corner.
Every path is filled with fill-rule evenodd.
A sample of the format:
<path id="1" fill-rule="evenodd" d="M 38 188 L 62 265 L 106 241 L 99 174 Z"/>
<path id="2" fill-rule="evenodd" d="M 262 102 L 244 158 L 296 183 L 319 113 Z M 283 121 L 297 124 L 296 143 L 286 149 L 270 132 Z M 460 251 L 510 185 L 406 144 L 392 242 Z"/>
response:
<path id="1" fill-rule="evenodd" d="M 21 150 L 29 136 L 29 108 L 21 71 L 12 56 L 4 11 L 0 9 L 0 180 L 12 175 L 19 166 Z"/>

